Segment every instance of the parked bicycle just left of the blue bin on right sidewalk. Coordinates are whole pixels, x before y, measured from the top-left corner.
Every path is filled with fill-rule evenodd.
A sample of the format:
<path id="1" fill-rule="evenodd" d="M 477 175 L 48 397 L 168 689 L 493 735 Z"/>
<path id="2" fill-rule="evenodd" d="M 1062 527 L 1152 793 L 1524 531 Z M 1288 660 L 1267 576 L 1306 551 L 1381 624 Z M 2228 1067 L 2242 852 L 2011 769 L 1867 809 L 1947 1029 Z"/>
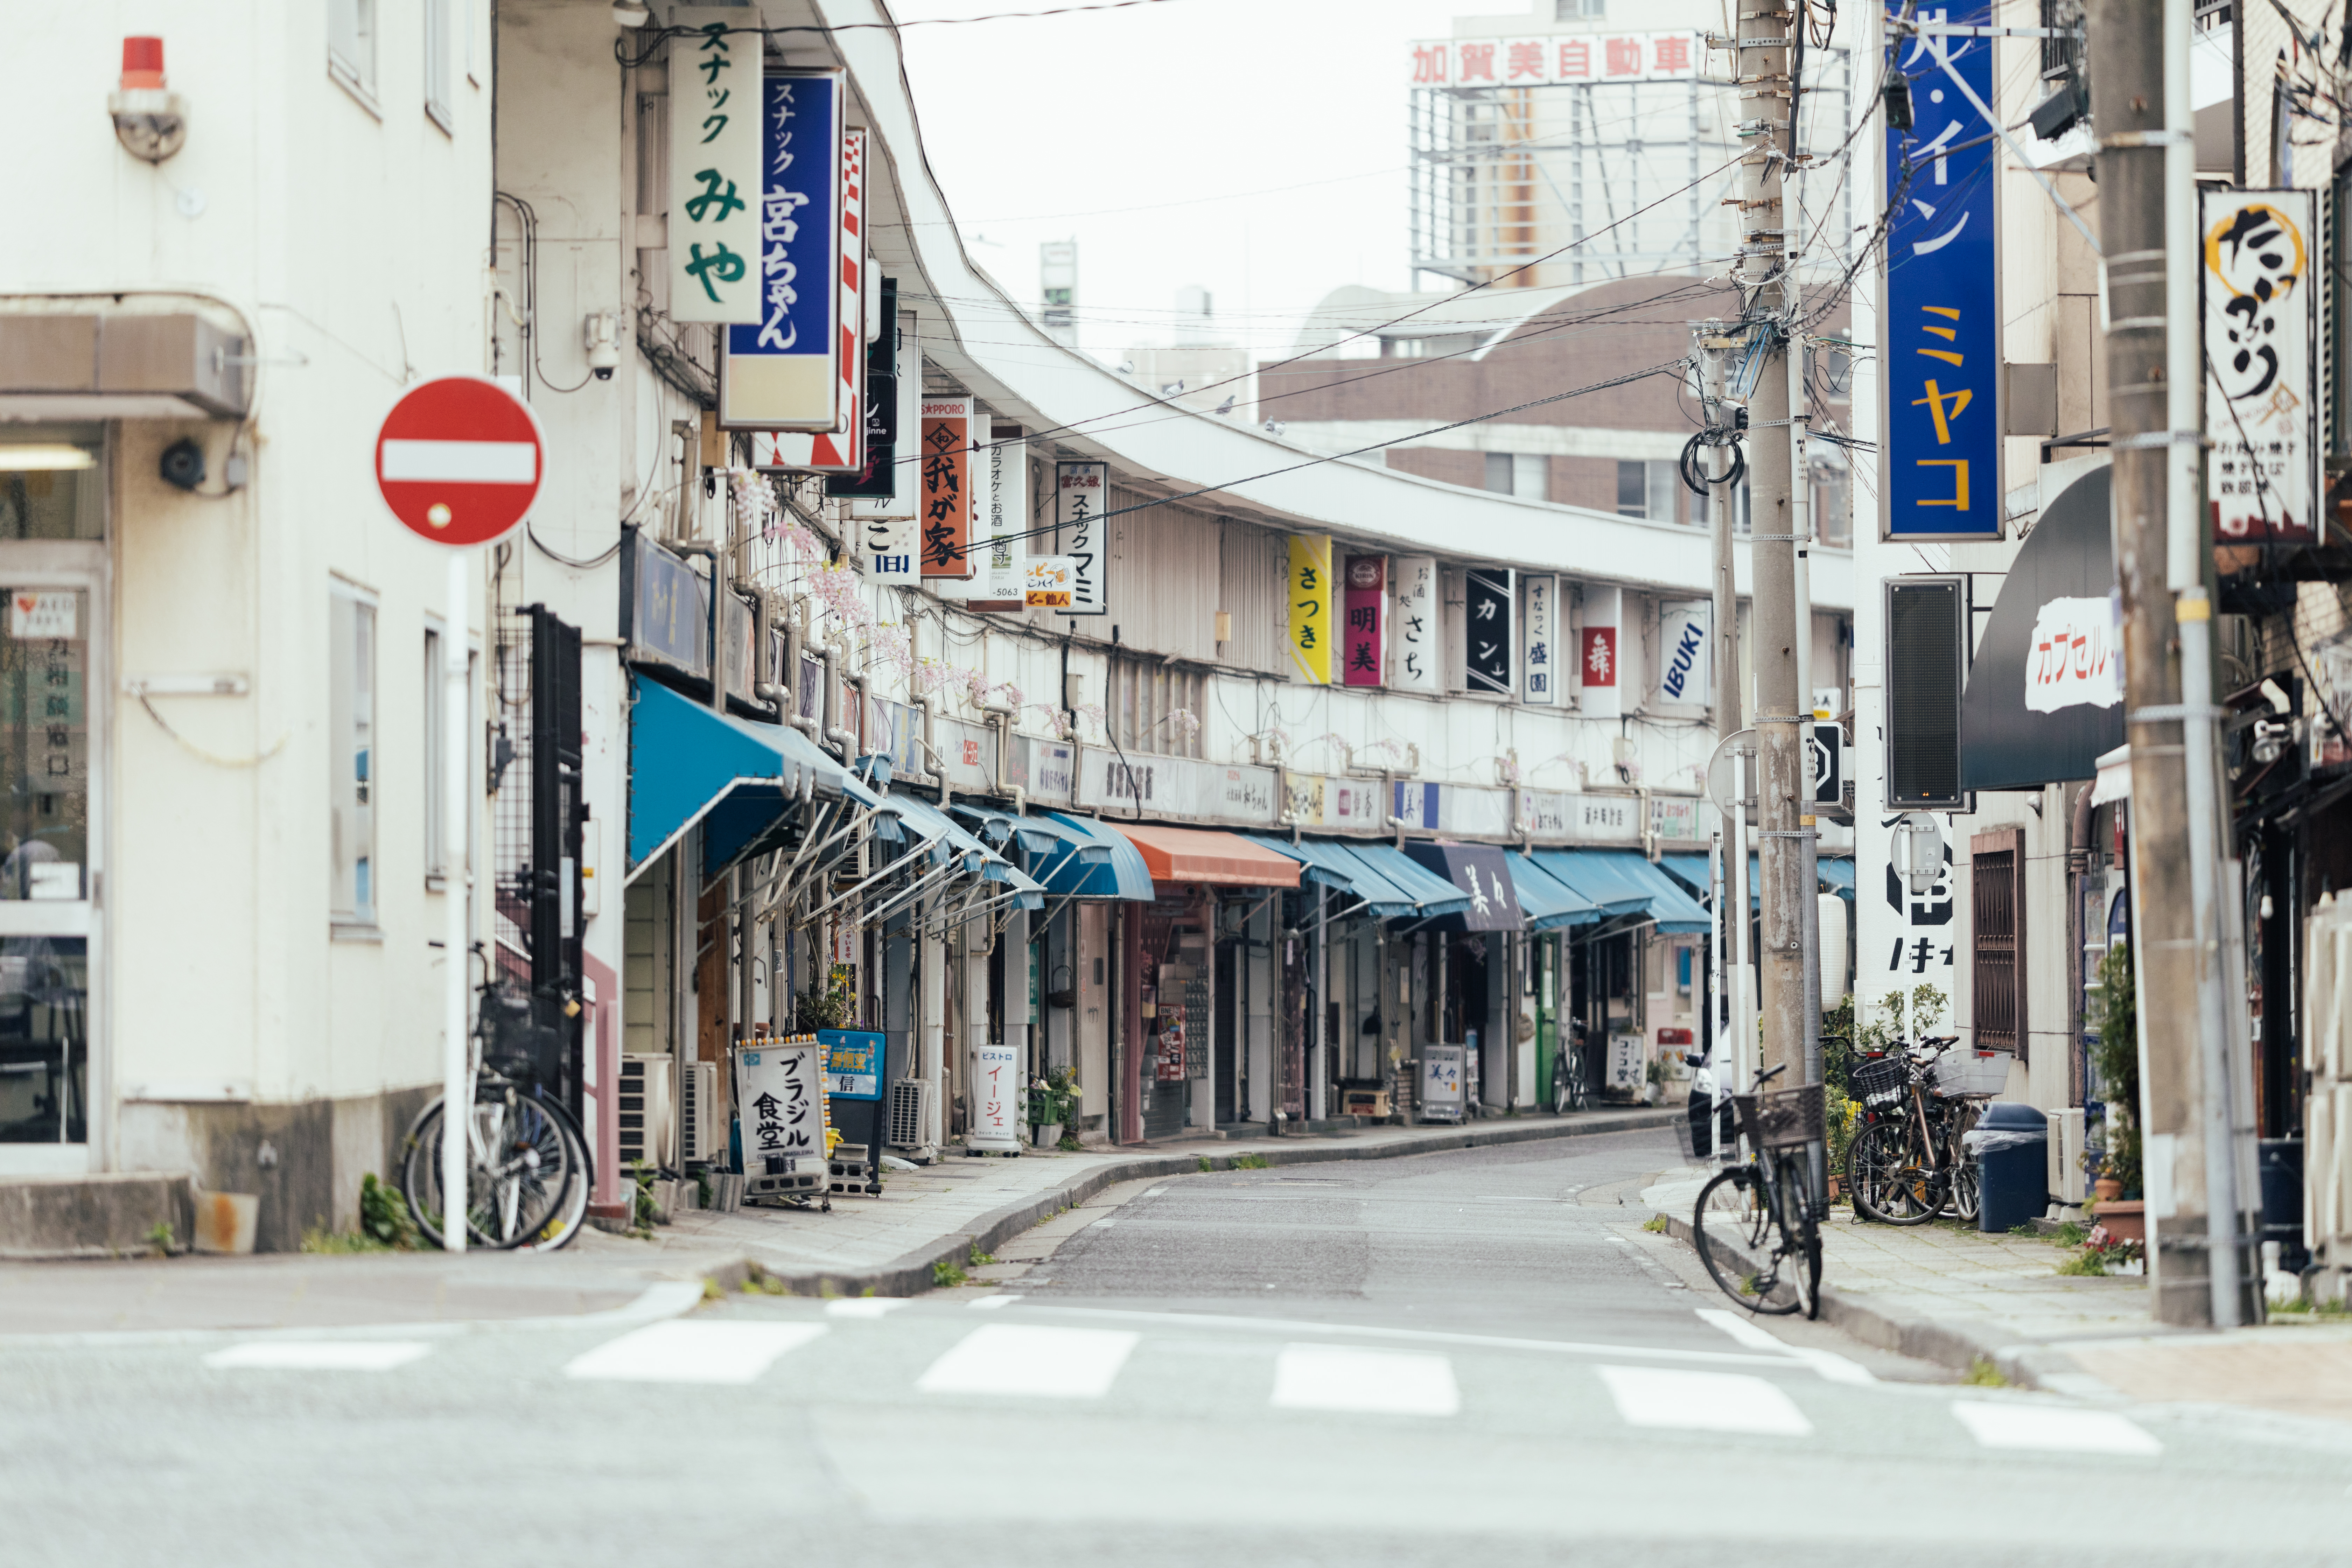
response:
<path id="1" fill-rule="evenodd" d="M 1957 1034 L 1898 1041 L 1891 1056 L 1853 1067 L 1863 1128 L 1846 1154 L 1846 1192 L 1865 1220 L 1976 1220 L 1980 1173 L 1962 1133 L 1976 1126 L 1983 1095 L 1936 1081 L 1938 1060 L 1957 1041 Z"/>

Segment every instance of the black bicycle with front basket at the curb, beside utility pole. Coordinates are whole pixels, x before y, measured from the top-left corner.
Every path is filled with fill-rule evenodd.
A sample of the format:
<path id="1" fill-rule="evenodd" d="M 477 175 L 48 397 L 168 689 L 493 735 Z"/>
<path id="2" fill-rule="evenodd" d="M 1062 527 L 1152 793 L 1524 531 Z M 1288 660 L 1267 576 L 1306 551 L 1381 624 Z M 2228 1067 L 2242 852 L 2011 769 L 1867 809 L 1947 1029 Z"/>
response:
<path id="1" fill-rule="evenodd" d="M 1691 1234 L 1708 1276 L 1748 1312 L 1820 1316 L 1820 1222 L 1806 1145 L 1823 1135 L 1825 1100 L 1820 1084 L 1766 1093 L 1764 1084 L 1783 1072 L 1759 1072 L 1757 1093 L 1731 1095 L 1755 1159 L 1698 1190 Z"/>

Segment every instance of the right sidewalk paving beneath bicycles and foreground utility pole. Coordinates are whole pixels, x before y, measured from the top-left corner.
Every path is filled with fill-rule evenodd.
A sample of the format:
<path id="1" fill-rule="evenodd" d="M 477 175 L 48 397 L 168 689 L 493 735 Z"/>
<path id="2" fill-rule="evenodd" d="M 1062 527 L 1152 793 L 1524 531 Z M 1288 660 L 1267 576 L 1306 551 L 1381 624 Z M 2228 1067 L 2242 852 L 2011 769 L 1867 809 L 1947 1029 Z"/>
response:
<path id="1" fill-rule="evenodd" d="M 1703 1166 L 1642 1192 L 1691 1241 Z M 2352 1420 L 2352 1324 L 2288 1319 L 2211 1333 L 2150 1316 L 2145 1276 L 2060 1274 L 2074 1251 L 1955 1222 L 1865 1225 L 1832 1208 L 1820 1232 L 1820 1316 L 1853 1338 L 1969 1373 L 2084 1399 L 2230 1403 Z"/>

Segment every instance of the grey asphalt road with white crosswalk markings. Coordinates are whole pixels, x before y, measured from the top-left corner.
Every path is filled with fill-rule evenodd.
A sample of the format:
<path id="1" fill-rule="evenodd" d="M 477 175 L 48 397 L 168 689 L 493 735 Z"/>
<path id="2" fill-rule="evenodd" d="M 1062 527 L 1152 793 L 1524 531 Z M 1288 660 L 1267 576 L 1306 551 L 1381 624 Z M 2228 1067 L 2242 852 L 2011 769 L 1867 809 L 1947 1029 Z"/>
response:
<path id="1" fill-rule="evenodd" d="M 0 1563 L 2352 1561 L 2352 1429 L 1759 1331 L 1621 1204 L 1670 1161 L 1136 1182 L 913 1302 L 14 1340 Z"/>

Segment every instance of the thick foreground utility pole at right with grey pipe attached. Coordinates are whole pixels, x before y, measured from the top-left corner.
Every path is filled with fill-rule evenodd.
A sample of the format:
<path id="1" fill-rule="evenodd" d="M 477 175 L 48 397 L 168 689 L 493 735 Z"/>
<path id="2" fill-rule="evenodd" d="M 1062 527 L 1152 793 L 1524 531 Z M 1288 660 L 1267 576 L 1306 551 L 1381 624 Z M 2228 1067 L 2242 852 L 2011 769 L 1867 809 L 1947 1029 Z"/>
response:
<path id="1" fill-rule="evenodd" d="M 2213 607 L 2197 517 L 2204 374 L 2190 0 L 2091 0 L 2089 45 L 2107 261 L 2114 574 L 2124 592 L 2150 1284 L 2166 1324 L 2230 1328 L 2256 1307 L 2244 1286 L 2253 1272 L 2241 1255 L 2230 1133 Z"/>

